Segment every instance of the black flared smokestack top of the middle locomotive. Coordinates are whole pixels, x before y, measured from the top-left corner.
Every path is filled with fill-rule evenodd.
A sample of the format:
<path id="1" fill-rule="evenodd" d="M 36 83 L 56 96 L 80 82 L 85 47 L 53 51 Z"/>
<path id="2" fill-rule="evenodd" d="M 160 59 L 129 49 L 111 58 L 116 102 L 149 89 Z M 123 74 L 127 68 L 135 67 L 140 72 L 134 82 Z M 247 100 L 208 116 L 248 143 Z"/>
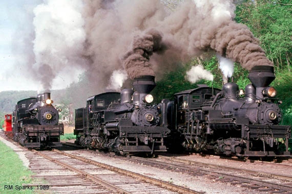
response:
<path id="1" fill-rule="evenodd" d="M 150 93 L 155 88 L 154 76 L 140 76 L 134 79 L 133 87 L 139 93 Z"/>

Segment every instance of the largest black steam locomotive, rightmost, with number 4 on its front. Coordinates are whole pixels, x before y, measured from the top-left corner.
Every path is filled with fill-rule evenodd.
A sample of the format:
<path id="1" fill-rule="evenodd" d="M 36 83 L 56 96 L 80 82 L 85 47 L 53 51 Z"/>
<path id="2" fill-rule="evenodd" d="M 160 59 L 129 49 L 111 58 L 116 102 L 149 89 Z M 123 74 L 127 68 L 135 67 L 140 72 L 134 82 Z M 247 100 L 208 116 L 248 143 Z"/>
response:
<path id="1" fill-rule="evenodd" d="M 222 90 L 199 85 L 176 93 L 175 100 L 166 105 L 172 130 L 168 140 L 179 142 L 182 138 L 185 149 L 197 152 L 290 156 L 291 127 L 280 125 L 281 101 L 269 86 L 275 79 L 274 67 L 255 66 L 248 78 L 252 84 L 245 87 L 245 94 L 232 82 Z"/>

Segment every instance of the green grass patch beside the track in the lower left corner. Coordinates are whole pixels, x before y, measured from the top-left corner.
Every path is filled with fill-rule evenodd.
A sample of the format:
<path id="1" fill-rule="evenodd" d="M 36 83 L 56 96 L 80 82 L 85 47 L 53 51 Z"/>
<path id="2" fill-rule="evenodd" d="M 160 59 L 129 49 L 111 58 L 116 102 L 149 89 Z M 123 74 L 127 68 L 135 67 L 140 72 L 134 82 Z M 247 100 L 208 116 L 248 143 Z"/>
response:
<path id="1" fill-rule="evenodd" d="M 0 141 L 0 193 L 33 193 L 33 190 L 16 189 L 16 186 L 32 183 L 31 175 L 18 155 Z M 5 189 L 5 185 L 12 185 L 13 189 Z"/>

